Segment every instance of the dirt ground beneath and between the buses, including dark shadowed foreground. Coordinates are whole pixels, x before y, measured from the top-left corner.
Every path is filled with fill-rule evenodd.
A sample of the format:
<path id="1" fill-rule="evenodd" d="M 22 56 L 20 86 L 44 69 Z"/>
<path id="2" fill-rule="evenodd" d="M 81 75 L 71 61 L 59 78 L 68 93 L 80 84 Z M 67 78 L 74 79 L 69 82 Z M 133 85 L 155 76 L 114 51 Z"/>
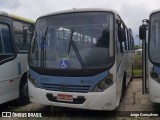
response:
<path id="1" fill-rule="evenodd" d="M 160 120 L 160 114 L 157 114 L 158 117 L 144 117 L 147 114 L 156 115 L 155 112 L 160 111 L 160 104 L 151 103 L 148 94 L 142 94 L 142 79 L 133 79 L 129 83 L 119 107 L 112 112 L 58 108 L 37 103 L 18 106 L 14 102 L 0 105 L 0 108 L 1 111 L 43 111 L 45 113 L 47 111 L 51 114 L 49 117 L 38 118 L 38 120 Z M 130 114 L 132 114 L 132 117 L 129 117 Z M 0 120 L 12 119 L 28 120 L 28 118 L 0 118 Z M 32 119 L 35 118 L 29 118 L 29 120 Z"/>

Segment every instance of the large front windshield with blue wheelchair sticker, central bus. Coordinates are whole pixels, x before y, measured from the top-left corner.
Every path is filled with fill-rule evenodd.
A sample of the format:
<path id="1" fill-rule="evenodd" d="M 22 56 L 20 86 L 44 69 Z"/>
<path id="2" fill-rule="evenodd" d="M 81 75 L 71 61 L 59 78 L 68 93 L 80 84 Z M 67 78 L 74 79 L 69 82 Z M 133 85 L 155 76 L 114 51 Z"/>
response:
<path id="1" fill-rule="evenodd" d="M 113 14 L 77 12 L 36 22 L 29 64 L 49 69 L 105 68 L 114 62 Z"/>

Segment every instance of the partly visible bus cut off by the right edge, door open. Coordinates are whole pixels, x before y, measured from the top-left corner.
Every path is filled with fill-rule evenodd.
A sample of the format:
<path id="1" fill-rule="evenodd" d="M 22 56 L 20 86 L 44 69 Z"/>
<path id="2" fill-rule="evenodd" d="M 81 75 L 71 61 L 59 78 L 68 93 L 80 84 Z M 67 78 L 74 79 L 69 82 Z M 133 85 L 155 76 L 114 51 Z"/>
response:
<path id="1" fill-rule="evenodd" d="M 160 103 L 160 10 L 142 20 L 139 37 L 143 43 L 143 93 L 153 103 Z"/>

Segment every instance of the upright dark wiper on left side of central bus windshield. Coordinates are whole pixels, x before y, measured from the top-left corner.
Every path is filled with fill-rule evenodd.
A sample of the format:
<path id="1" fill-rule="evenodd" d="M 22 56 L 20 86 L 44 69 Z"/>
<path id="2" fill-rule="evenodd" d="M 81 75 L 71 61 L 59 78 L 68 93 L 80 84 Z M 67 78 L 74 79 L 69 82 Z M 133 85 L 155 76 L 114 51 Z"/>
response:
<path id="1" fill-rule="evenodd" d="M 46 37 L 48 33 L 48 26 L 45 30 L 44 36 L 42 36 L 42 43 L 41 43 L 41 67 L 45 66 L 46 61 Z"/>

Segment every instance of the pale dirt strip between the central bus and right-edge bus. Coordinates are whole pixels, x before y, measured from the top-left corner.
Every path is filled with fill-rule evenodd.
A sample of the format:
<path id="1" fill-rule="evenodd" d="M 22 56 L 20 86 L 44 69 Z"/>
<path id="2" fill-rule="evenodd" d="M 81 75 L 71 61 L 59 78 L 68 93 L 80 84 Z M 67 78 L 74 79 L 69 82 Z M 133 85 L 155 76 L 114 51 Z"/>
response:
<path id="1" fill-rule="evenodd" d="M 142 79 L 133 79 L 129 83 L 117 111 L 156 111 L 148 94 L 142 94 Z"/>

